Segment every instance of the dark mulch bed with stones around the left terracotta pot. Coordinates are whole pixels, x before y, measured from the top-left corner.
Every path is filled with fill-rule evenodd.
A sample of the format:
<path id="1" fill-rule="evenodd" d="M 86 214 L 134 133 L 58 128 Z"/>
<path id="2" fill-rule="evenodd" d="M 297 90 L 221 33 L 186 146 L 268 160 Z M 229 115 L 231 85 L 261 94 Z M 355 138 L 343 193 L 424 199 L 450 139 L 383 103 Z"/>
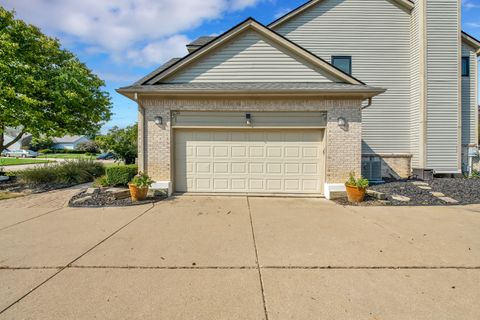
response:
<path id="1" fill-rule="evenodd" d="M 130 197 L 125 199 L 115 199 L 115 197 L 111 192 L 106 191 L 107 189 L 108 188 L 105 188 L 104 190 L 100 190 L 100 192 L 95 192 L 93 194 L 87 194 L 86 191 L 83 191 L 73 196 L 72 199 L 70 199 L 68 205 L 70 207 L 76 207 L 76 208 L 128 207 L 128 206 L 138 206 L 143 204 L 155 203 L 167 198 L 166 194 L 163 192 L 154 192 L 154 193 L 150 192 L 149 196 L 145 201 L 133 202 Z M 88 200 L 82 201 L 81 203 L 75 203 L 75 200 L 82 199 L 88 196 L 90 196 L 91 198 Z"/>

